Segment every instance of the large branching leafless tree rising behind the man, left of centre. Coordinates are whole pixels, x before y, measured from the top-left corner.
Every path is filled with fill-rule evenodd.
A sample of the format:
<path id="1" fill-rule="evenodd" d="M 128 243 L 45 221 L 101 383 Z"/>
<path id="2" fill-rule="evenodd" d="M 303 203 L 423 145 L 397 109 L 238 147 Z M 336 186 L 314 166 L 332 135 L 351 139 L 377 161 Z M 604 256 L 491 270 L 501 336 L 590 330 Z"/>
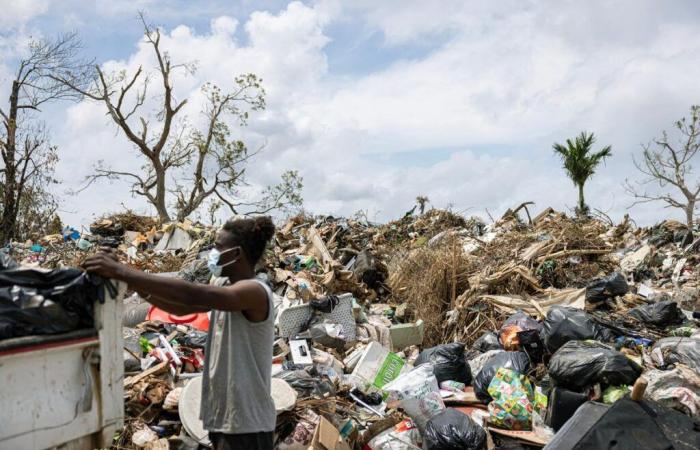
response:
<path id="1" fill-rule="evenodd" d="M 176 121 L 187 99 L 175 98 L 173 71 L 194 73 L 195 67 L 174 64 L 161 47 L 160 30 L 147 24 L 143 16 L 141 22 L 145 41 L 157 62 L 157 73 L 146 73 L 139 66 L 131 76 L 124 72 L 105 74 L 96 66 L 90 89 L 80 89 L 61 80 L 80 94 L 104 103 L 109 117 L 146 160 L 140 171 L 117 171 L 100 162 L 85 187 L 99 179 L 128 179 L 132 182 L 132 192 L 145 197 L 163 222 L 172 219 L 169 199 L 174 199 L 172 206 L 177 220 L 188 217 L 210 197 L 218 199 L 214 206 L 226 205 L 233 213 L 239 213 L 239 209 L 245 209 L 246 213 L 264 213 L 299 205 L 302 185 L 296 172 L 285 173 L 282 182 L 268 187 L 259 201 L 238 200 L 238 189 L 246 183 L 246 163 L 261 149 L 249 151 L 242 141 L 232 139 L 228 121 L 234 119 L 244 126 L 251 111 L 265 108 L 261 80 L 254 74 L 238 76 L 230 93 L 223 93 L 219 87 L 207 83 L 202 87 L 206 97 L 202 110 L 203 130 L 191 125 L 186 118 Z M 152 79 L 160 79 L 161 84 L 156 97 L 161 104 L 155 115 L 158 119 L 155 125 L 143 111 Z"/>

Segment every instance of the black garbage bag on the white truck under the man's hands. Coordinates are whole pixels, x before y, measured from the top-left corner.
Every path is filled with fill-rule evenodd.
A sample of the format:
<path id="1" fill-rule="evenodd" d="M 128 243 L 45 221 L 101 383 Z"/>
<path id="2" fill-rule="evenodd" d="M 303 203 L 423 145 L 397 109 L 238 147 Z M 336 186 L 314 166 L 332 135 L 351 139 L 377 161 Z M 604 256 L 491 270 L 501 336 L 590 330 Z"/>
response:
<path id="1" fill-rule="evenodd" d="M 94 302 L 116 288 L 79 269 L 0 271 L 0 339 L 93 326 Z"/>

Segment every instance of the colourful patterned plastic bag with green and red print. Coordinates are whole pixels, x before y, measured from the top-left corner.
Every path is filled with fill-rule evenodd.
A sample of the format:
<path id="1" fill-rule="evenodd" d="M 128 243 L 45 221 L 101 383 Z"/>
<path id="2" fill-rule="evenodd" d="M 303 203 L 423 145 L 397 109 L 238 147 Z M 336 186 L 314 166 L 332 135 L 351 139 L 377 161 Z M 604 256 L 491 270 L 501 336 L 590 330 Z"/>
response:
<path id="1" fill-rule="evenodd" d="M 488 392 L 490 421 L 506 430 L 532 429 L 535 390 L 527 377 L 510 369 L 498 369 Z"/>

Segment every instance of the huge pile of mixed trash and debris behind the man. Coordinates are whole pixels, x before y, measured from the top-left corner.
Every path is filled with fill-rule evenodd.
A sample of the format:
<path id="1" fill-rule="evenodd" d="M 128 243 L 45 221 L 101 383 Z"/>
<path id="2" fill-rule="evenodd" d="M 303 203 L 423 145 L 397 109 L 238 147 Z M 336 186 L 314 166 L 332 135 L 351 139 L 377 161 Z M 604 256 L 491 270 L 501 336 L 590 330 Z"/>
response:
<path id="1" fill-rule="evenodd" d="M 527 205 L 491 224 L 431 210 L 279 226 L 258 268 L 275 293 L 276 447 L 700 448 L 700 239 L 671 220 Z M 69 264 L 112 242 L 127 263 L 204 283 L 214 235 L 112 217 L 59 247 Z M 114 447 L 208 445 L 207 315 L 133 294 L 125 325 Z"/>

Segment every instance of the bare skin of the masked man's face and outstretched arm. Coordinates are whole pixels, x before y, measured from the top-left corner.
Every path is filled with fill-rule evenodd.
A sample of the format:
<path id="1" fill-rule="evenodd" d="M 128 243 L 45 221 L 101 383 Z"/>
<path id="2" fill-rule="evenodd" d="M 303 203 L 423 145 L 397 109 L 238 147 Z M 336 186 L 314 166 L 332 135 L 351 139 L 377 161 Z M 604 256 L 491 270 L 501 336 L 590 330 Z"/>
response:
<path id="1" fill-rule="evenodd" d="M 228 277 L 230 286 L 218 287 L 189 283 L 175 278 L 151 275 L 121 264 L 109 252 L 101 252 L 85 260 L 83 268 L 104 278 L 124 281 L 152 305 L 178 316 L 218 311 L 240 311 L 251 322 L 262 322 L 268 315 L 267 293 L 255 276 L 254 264 L 233 236 L 220 230 L 216 235 L 215 248 L 221 255 L 219 265 L 226 265 L 221 276 Z"/>

